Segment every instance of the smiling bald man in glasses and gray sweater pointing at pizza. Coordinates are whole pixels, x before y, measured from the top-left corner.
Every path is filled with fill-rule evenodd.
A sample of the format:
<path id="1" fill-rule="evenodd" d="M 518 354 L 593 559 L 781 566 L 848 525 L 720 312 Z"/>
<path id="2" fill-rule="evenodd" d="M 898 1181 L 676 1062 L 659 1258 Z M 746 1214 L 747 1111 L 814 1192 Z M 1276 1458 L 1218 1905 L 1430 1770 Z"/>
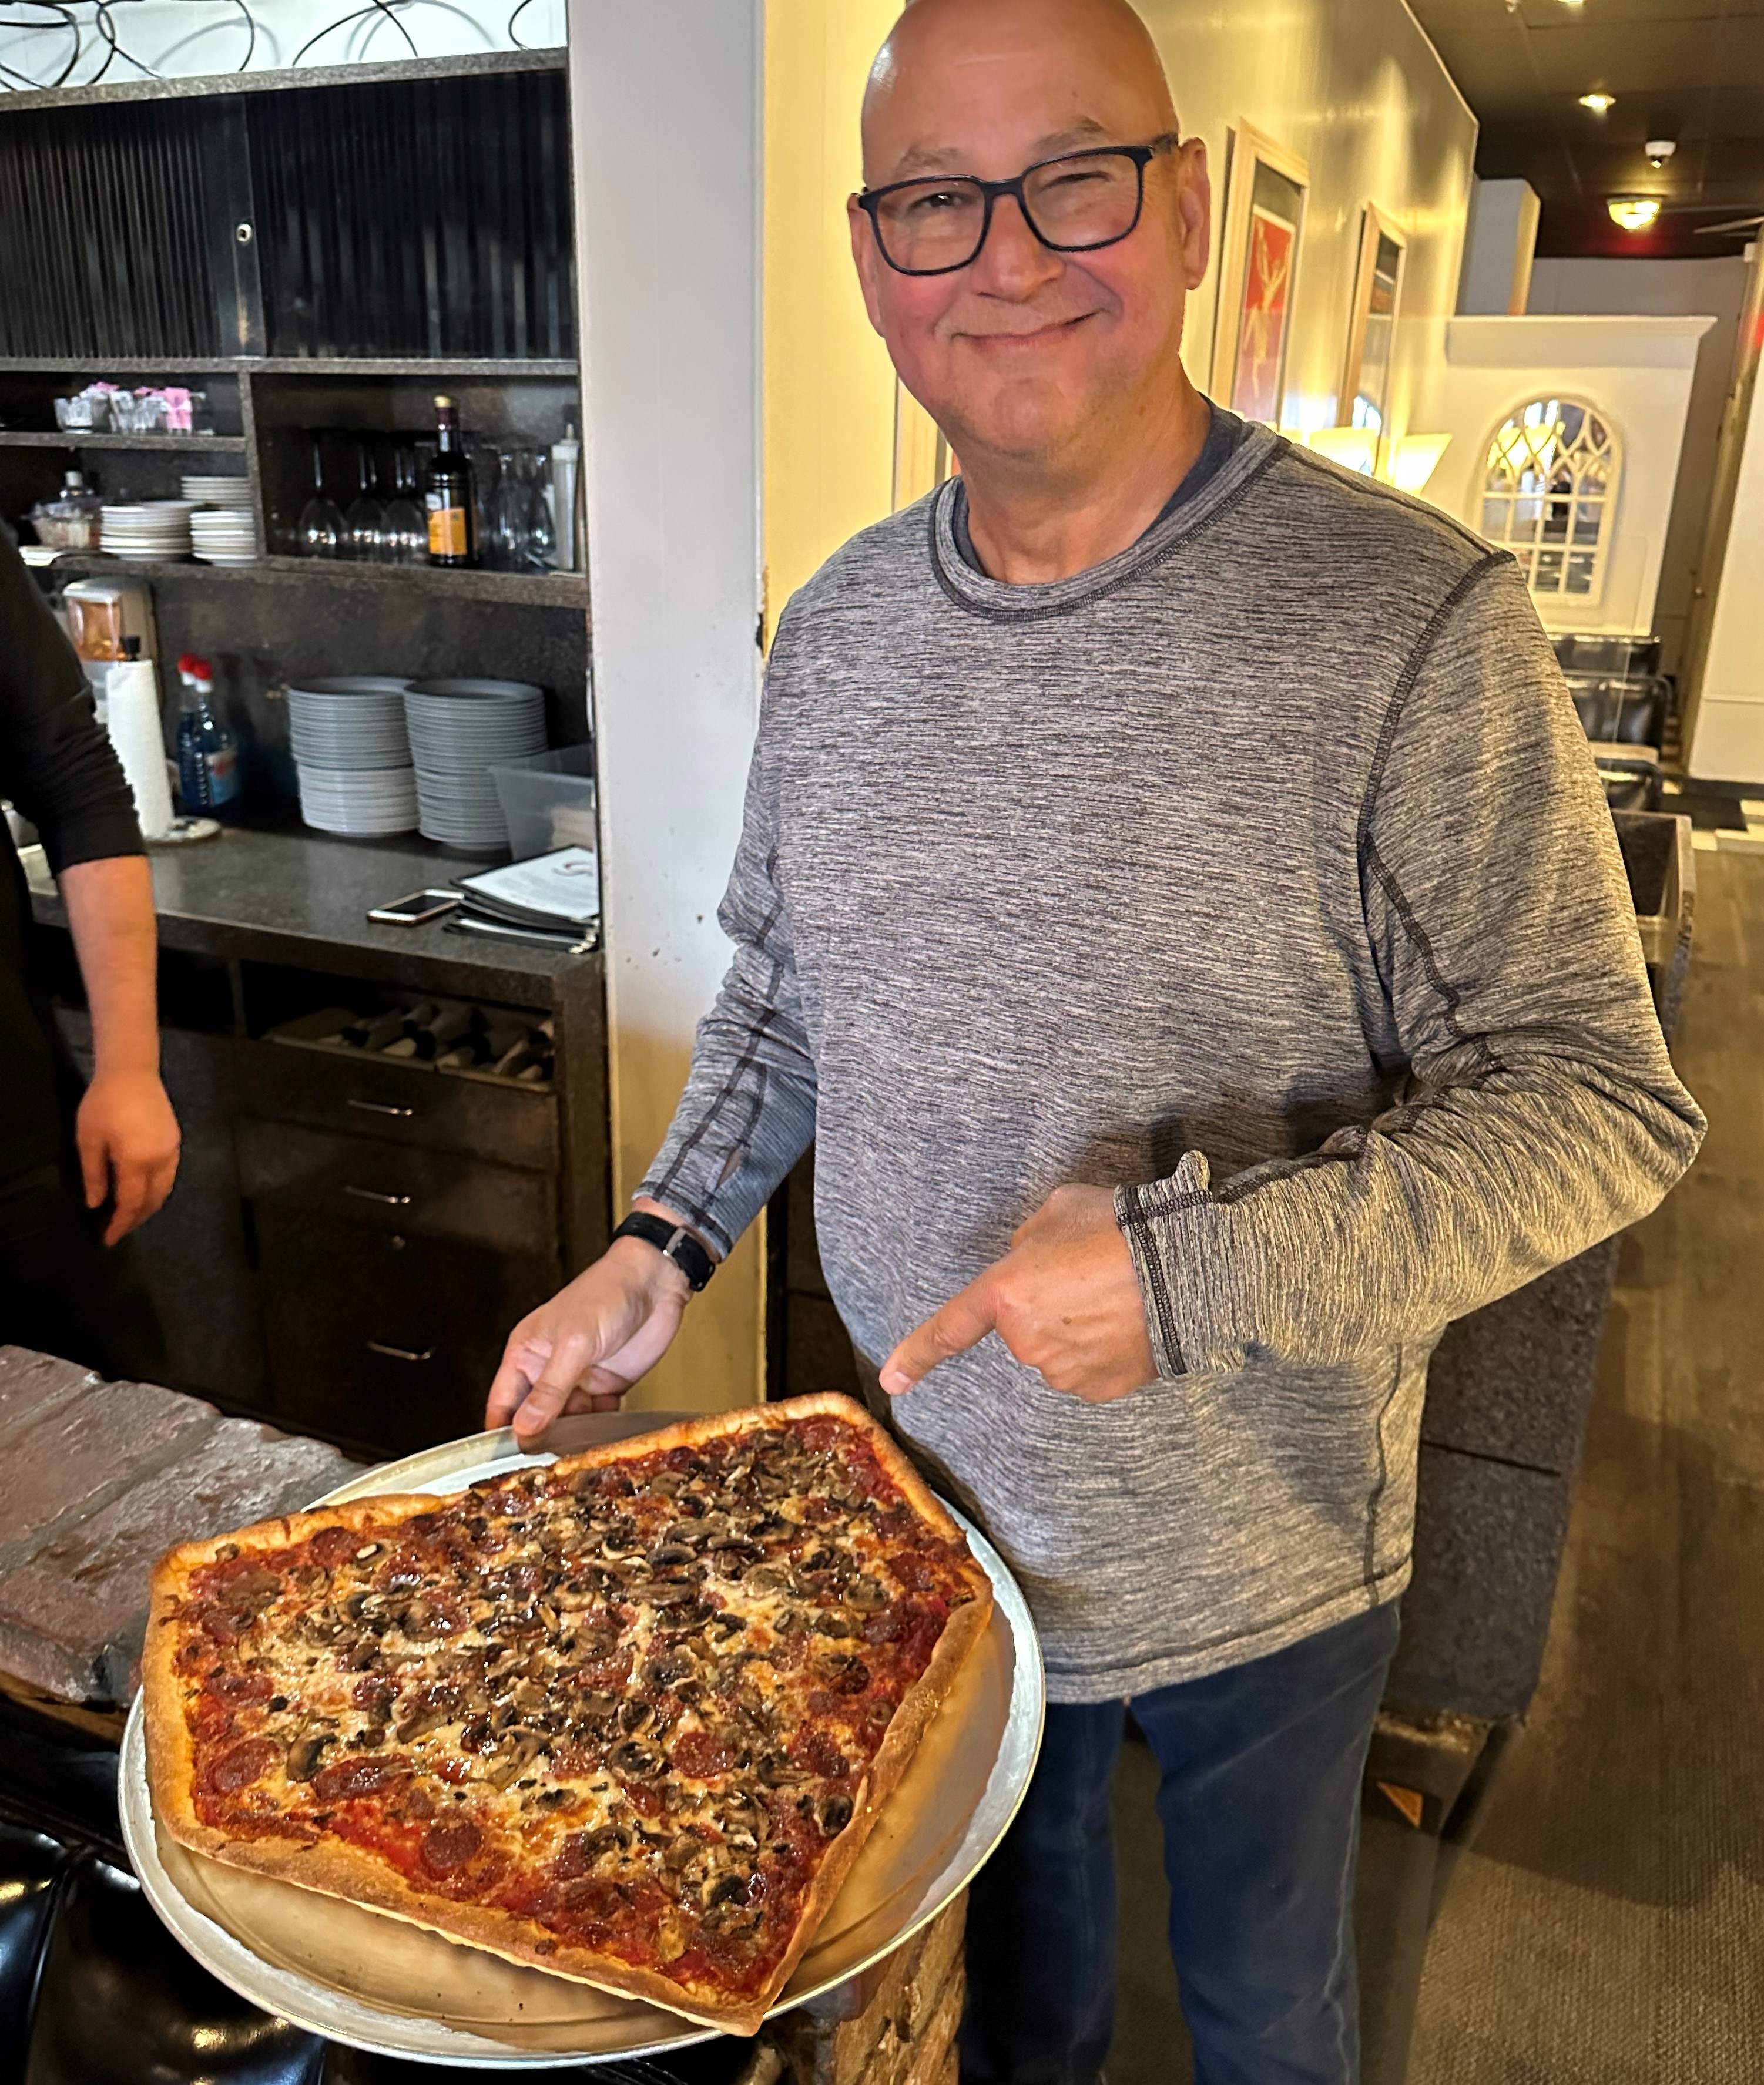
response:
<path id="1" fill-rule="evenodd" d="M 1428 1353 L 1701 1118 L 1514 561 L 1191 386 L 1205 152 L 1132 10 L 920 0 L 863 163 L 963 475 L 780 621 L 680 1113 L 490 1424 L 615 1401 L 813 1136 L 853 1343 L 1047 1655 L 963 2081 L 1099 2075 L 1124 1703 L 1195 2075 L 1349 2081 Z"/>

